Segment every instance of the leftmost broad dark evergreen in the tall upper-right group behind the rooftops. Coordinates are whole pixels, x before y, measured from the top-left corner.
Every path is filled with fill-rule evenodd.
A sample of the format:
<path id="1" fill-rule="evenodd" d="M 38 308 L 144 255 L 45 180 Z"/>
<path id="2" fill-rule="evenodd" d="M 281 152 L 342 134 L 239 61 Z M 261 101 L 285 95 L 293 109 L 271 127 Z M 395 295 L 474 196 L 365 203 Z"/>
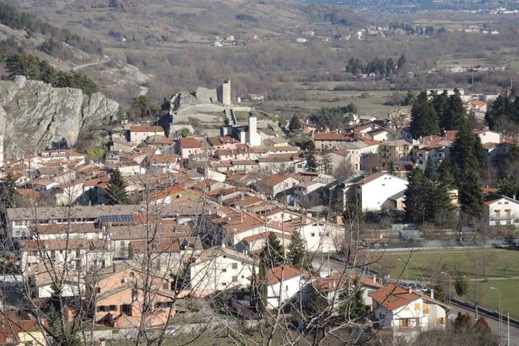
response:
<path id="1" fill-rule="evenodd" d="M 411 134 L 417 139 L 420 136 L 438 135 L 438 116 L 429 101 L 427 92 L 422 91 L 413 101 L 411 108 Z"/>

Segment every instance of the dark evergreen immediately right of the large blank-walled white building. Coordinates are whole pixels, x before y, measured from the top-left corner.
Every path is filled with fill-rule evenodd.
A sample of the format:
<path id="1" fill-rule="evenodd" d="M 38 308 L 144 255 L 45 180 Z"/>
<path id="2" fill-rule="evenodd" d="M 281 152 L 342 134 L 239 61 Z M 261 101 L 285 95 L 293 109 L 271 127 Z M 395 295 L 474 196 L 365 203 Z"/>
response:
<path id="1" fill-rule="evenodd" d="M 420 168 L 415 168 L 407 176 L 405 190 L 405 218 L 411 222 L 421 222 L 425 213 L 426 178 Z"/>

